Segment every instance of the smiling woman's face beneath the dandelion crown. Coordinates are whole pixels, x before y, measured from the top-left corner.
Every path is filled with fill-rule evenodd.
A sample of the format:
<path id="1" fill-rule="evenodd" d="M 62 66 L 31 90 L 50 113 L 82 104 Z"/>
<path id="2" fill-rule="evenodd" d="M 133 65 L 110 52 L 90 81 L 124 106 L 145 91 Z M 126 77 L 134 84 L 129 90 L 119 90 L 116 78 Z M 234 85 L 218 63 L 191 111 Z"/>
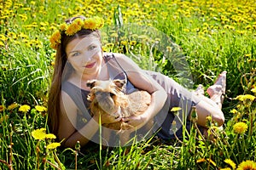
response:
<path id="1" fill-rule="evenodd" d="M 75 38 L 67 44 L 67 61 L 79 75 L 94 76 L 102 66 L 102 47 L 99 38 Z"/>

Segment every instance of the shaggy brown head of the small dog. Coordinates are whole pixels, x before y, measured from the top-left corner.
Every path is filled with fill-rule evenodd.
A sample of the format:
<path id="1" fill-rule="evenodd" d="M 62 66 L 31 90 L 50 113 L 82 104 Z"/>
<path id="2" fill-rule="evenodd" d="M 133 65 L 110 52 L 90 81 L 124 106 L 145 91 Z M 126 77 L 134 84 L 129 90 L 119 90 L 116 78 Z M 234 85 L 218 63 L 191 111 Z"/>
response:
<path id="1" fill-rule="evenodd" d="M 116 112 L 119 107 L 128 105 L 127 96 L 122 92 L 125 88 L 125 80 L 90 80 L 86 83 L 90 87 L 87 99 L 91 101 L 91 107 L 101 109 L 108 114 Z M 93 108 L 91 108 L 93 109 Z"/>

